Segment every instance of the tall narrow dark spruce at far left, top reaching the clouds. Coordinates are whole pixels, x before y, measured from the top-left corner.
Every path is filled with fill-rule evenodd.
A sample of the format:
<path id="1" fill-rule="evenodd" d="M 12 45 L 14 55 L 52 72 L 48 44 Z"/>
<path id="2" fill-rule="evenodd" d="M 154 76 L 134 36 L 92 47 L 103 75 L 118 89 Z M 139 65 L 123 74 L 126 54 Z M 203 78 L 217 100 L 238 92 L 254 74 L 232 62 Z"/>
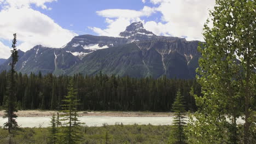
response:
<path id="1" fill-rule="evenodd" d="M 15 129 L 18 127 L 18 123 L 16 122 L 17 116 L 14 112 L 17 112 L 16 109 L 16 81 L 15 81 L 15 65 L 18 62 L 18 51 L 16 49 L 16 33 L 13 34 L 13 44 L 11 47 L 13 47 L 13 50 L 11 50 L 11 63 L 9 65 L 11 66 L 10 73 L 9 73 L 9 79 L 8 79 L 8 87 L 7 87 L 7 93 L 5 95 L 5 115 L 4 117 L 8 117 L 8 122 L 4 124 L 4 127 L 8 127 L 8 132 L 11 133 L 12 129 Z"/>

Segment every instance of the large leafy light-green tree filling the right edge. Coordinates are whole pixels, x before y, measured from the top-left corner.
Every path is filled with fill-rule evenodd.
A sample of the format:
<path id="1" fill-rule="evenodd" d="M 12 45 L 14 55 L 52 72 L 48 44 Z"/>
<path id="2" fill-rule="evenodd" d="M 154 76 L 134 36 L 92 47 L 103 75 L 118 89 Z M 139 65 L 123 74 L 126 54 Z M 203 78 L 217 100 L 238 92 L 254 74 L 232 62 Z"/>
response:
<path id="1" fill-rule="evenodd" d="M 256 90 L 255 9 L 252 0 L 217 0 L 210 11 L 213 26 L 207 20 L 206 43 L 199 47 L 197 81 L 203 97 L 195 95 L 199 109 L 189 118 L 191 143 L 236 144 L 242 137 L 245 144 L 255 142 L 249 129 L 255 129 L 250 118 Z M 238 133 L 236 119 L 243 116 L 244 132 Z"/>

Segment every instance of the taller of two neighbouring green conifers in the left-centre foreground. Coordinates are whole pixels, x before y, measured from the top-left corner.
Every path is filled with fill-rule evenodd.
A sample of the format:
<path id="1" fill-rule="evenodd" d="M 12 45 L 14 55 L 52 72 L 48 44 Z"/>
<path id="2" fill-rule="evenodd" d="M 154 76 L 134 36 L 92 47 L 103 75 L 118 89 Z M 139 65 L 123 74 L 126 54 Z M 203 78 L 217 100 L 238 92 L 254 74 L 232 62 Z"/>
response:
<path id="1" fill-rule="evenodd" d="M 62 121 L 62 128 L 59 133 L 60 143 L 75 144 L 80 141 L 80 132 L 78 130 L 80 122 L 77 114 L 77 89 L 74 88 L 74 80 L 71 79 L 68 84 L 68 94 L 62 100 L 62 112 L 65 113 Z"/>

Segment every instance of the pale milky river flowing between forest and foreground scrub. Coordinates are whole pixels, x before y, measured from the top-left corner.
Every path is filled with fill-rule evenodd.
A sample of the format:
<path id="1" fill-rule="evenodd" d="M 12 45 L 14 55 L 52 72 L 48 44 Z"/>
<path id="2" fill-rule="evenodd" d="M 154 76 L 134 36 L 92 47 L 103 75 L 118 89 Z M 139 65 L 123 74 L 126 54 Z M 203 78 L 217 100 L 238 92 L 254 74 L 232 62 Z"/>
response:
<path id="1" fill-rule="evenodd" d="M 49 127 L 51 117 L 18 117 L 17 122 L 21 128 Z M 171 125 L 173 117 L 109 117 L 109 116 L 83 116 L 79 117 L 80 122 L 85 123 L 88 127 L 101 127 L 104 123 L 114 125 L 123 123 L 131 124 L 152 124 L 152 125 Z M 7 122 L 7 118 L 0 117 L 0 126 Z M 238 123 L 244 123 L 241 118 L 237 119 Z"/>

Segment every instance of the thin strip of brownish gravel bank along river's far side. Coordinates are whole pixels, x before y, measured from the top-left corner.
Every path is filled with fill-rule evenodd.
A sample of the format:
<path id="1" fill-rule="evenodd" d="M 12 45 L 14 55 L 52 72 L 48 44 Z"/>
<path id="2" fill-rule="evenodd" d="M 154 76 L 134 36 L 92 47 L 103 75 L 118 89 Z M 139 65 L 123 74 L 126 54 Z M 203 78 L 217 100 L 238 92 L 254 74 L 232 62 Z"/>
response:
<path id="1" fill-rule="evenodd" d="M 50 117 L 57 111 L 44 110 L 21 110 L 16 112 L 18 117 Z M 60 112 L 61 114 L 61 112 Z M 143 112 L 143 111 L 79 111 L 79 116 L 109 116 L 109 117 L 171 117 L 172 112 Z M 0 117 L 4 116 L 4 111 L 0 111 Z"/>

